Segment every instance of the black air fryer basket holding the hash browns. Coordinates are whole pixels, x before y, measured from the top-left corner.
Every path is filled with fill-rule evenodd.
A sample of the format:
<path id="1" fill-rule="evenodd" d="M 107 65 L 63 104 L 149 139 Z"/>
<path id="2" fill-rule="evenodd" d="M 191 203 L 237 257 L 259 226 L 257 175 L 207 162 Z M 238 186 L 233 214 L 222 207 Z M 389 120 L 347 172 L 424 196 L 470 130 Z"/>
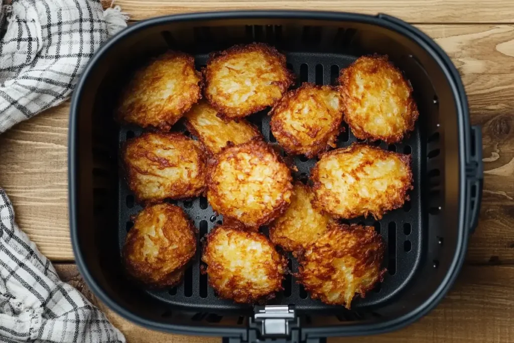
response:
<path id="1" fill-rule="evenodd" d="M 218 299 L 201 275 L 200 249 L 179 286 L 145 291 L 127 282 L 120 249 L 141 207 L 119 172 L 119 149 L 141 133 L 113 120 L 119 90 L 132 71 L 167 49 L 195 56 L 197 67 L 211 51 L 265 42 L 287 57 L 298 86 L 334 84 L 339 70 L 359 56 L 380 53 L 401 69 L 414 88 L 420 112 L 414 133 L 383 149 L 412 154 L 411 201 L 374 225 L 387 243 L 380 287 L 352 310 L 312 300 L 288 276 L 284 291 L 266 306 Z M 252 115 L 267 141 L 267 111 Z M 179 122 L 172 129 L 184 131 Z M 186 134 L 188 134 L 186 132 Z M 346 128 L 339 146 L 356 138 Z M 122 31 L 91 59 L 71 104 L 69 199 L 71 238 L 87 284 L 109 307 L 142 326 L 212 335 L 233 342 L 279 339 L 315 341 L 328 336 L 374 334 L 406 326 L 443 298 L 464 261 L 476 227 L 482 192 L 482 138 L 470 127 L 466 95 L 448 56 L 427 35 L 387 15 L 253 11 L 160 17 Z M 305 179 L 316 160 L 296 157 L 296 177 Z M 221 216 L 205 197 L 179 201 L 199 229 L 200 240 Z M 264 228 L 265 229 L 265 228 Z M 290 267 L 296 270 L 294 259 Z"/>

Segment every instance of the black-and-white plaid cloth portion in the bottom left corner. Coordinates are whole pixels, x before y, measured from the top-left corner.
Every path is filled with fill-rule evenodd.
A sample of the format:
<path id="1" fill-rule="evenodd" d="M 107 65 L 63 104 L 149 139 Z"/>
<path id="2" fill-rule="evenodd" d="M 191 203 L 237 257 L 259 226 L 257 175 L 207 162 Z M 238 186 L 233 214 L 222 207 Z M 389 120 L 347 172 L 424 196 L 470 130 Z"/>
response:
<path id="1" fill-rule="evenodd" d="M 82 294 L 62 282 L 14 222 L 0 189 L 0 342 L 124 342 Z"/>

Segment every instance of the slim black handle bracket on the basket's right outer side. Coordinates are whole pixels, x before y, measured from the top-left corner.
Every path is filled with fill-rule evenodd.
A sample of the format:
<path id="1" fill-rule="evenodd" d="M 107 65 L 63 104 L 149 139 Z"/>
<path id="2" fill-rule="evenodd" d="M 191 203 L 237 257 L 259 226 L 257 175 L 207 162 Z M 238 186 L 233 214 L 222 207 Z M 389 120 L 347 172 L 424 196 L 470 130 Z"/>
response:
<path id="1" fill-rule="evenodd" d="M 466 166 L 466 196 L 469 213 L 468 227 L 471 233 L 479 222 L 480 204 L 482 203 L 482 188 L 484 185 L 484 162 L 482 161 L 482 128 L 471 127 L 471 147 Z"/>

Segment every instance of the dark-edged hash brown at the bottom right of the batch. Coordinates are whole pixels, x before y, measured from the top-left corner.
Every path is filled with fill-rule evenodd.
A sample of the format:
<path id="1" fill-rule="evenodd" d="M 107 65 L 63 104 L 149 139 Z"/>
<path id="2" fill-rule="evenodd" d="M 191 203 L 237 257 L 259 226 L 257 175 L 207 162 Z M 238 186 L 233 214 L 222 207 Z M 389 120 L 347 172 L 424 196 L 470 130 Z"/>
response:
<path id="1" fill-rule="evenodd" d="M 384 244 L 372 226 L 331 224 L 299 257 L 295 275 L 313 299 L 350 304 L 356 293 L 364 298 L 386 269 L 381 269 Z"/>

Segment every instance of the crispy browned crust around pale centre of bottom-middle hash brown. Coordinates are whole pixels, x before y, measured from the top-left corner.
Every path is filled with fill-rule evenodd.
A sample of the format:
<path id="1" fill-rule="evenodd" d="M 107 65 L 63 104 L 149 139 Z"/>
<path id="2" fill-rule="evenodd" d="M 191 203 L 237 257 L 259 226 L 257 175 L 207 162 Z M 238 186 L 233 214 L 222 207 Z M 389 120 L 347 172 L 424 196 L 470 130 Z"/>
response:
<path id="1" fill-rule="evenodd" d="M 246 268 L 241 267 L 241 272 L 236 274 L 232 272 L 227 272 L 225 270 L 225 266 L 223 262 L 217 262 L 221 256 L 216 256 L 215 250 L 210 249 L 210 245 L 216 243 L 217 236 L 227 232 L 227 234 L 236 234 L 238 237 L 244 237 L 251 241 L 260 241 L 262 244 L 265 244 L 272 251 L 272 256 L 269 261 L 266 261 L 266 265 L 264 266 L 266 270 L 271 275 L 269 279 L 275 281 L 275 285 L 272 287 L 267 287 L 267 289 L 261 290 L 260 292 L 252 292 L 254 290 L 254 283 L 250 280 L 246 281 L 248 276 L 248 270 Z M 224 239 L 224 238 L 221 238 Z M 238 239 L 235 242 L 236 246 L 233 249 L 241 249 L 242 247 L 238 247 L 238 245 L 243 244 L 242 239 Z M 245 242 L 246 245 L 246 242 Z M 244 247 L 244 246 L 243 246 Z M 246 251 L 246 250 L 243 250 Z M 237 258 L 240 258 L 241 254 L 237 254 Z M 270 300 L 276 297 L 276 293 L 283 290 L 282 280 L 284 279 L 287 269 L 287 259 L 283 256 L 279 251 L 277 251 L 274 244 L 268 240 L 268 238 L 257 231 L 248 231 L 243 225 L 238 224 L 230 224 L 230 226 L 218 225 L 215 226 L 211 232 L 206 236 L 204 240 L 203 252 L 202 252 L 202 261 L 207 264 L 207 266 L 203 266 L 201 272 L 207 274 L 209 276 L 209 285 L 214 288 L 219 298 L 222 299 L 231 299 L 238 303 L 255 303 L 255 302 L 265 302 L 266 300 Z M 224 259 L 221 257 L 221 259 Z M 245 261 L 245 263 L 249 262 L 248 258 L 241 259 Z M 263 261 L 254 261 L 250 260 L 250 265 L 254 263 L 262 263 Z M 250 270 L 256 270 L 257 268 L 251 268 Z M 262 268 L 259 268 L 262 270 Z M 231 275 L 229 282 L 225 284 L 223 287 L 220 287 L 216 284 L 217 280 L 223 279 L 225 273 Z M 239 283 L 246 283 L 245 285 L 238 286 Z"/>

